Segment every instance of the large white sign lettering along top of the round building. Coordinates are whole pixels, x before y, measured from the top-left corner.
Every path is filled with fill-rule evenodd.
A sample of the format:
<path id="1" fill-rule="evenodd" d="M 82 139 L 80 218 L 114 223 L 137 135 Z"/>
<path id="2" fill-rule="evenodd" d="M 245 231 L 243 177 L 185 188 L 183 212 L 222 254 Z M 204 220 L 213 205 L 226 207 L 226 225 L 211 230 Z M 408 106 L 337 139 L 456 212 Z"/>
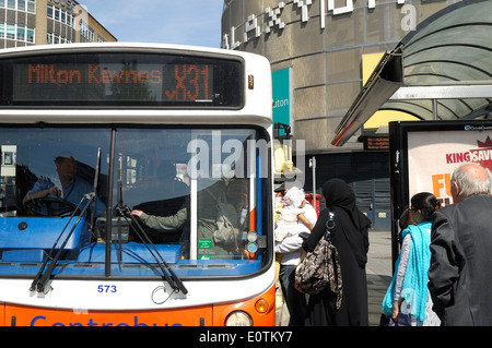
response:
<path id="1" fill-rule="evenodd" d="M 327 15 L 340 15 L 344 13 L 352 13 L 354 11 L 354 3 L 358 0 L 319 0 L 319 26 L 325 29 Z M 359 0 L 360 1 L 360 0 Z M 383 0 L 378 0 L 383 1 Z M 397 0 L 397 5 L 401 7 L 401 13 L 405 17 L 401 20 L 403 31 L 412 31 L 415 28 L 415 8 L 411 4 L 405 4 L 406 0 Z M 407 0 L 408 1 L 408 0 Z M 313 0 L 291 0 L 281 1 L 276 8 L 268 7 L 259 14 L 250 14 L 245 23 L 237 26 L 232 26 L 229 34 L 222 37 L 222 48 L 235 49 L 242 44 L 247 43 L 251 38 L 260 37 L 261 34 L 269 34 L 274 29 L 283 29 L 285 22 L 281 20 L 283 9 L 292 4 L 293 13 L 301 13 L 301 21 L 309 21 L 309 9 L 313 5 Z M 341 5 L 340 5 L 341 4 Z M 367 0 L 367 8 L 375 9 L 376 0 Z M 301 10 L 301 11 L 300 11 Z M 243 27 L 242 29 L 239 29 Z"/>

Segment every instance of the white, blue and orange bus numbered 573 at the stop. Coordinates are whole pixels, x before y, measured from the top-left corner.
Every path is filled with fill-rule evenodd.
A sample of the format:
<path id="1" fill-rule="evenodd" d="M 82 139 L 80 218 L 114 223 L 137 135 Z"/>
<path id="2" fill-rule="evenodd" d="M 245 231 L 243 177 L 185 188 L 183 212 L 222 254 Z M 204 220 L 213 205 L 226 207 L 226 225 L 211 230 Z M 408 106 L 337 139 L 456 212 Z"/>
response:
<path id="1" fill-rule="evenodd" d="M 266 58 L 32 46 L 0 76 L 0 325 L 274 325 Z"/>

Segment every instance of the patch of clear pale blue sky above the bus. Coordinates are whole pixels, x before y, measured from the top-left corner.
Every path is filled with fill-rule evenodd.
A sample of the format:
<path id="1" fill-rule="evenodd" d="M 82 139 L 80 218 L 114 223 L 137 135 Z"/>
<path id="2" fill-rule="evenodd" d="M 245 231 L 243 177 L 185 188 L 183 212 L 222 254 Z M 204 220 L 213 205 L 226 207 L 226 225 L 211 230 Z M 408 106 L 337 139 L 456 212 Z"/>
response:
<path id="1" fill-rule="evenodd" d="M 223 0 L 78 0 L 118 41 L 221 46 Z"/>

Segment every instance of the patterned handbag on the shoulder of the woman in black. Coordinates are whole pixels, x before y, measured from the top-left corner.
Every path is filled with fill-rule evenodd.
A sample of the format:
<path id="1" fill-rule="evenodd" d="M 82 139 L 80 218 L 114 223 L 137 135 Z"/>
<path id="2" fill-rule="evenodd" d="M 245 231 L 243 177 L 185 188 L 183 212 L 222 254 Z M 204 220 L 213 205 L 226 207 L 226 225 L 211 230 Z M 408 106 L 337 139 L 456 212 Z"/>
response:
<path id="1" fill-rule="evenodd" d="M 341 305 L 342 279 L 338 251 L 331 242 L 335 213 L 328 212 L 326 232 L 315 250 L 308 252 L 295 269 L 295 288 L 308 295 L 317 295 L 328 287 L 337 296 L 336 307 Z"/>

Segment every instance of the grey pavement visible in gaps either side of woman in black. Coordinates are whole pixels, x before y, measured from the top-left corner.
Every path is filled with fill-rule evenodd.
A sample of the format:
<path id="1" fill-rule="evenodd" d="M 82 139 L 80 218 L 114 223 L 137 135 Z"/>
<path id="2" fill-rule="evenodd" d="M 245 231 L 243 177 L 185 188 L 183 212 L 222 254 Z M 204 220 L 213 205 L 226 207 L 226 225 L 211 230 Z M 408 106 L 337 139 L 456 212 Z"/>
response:
<path id="1" fill-rule="evenodd" d="M 382 301 L 393 276 L 391 233 L 390 231 L 370 231 L 370 251 L 367 254 L 367 302 L 370 326 L 379 325 Z M 277 292 L 277 325 L 286 326 L 289 311 L 281 291 Z"/>

